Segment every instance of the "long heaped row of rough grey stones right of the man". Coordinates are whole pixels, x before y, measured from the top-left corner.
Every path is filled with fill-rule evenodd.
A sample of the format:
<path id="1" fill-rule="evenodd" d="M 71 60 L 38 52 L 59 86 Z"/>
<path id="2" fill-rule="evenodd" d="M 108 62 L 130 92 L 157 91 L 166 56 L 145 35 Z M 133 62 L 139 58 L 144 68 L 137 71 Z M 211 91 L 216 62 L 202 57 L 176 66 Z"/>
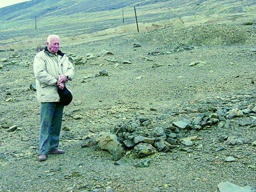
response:
<path id="1" fill-rule="evenodd" d="M 184 137 L 184 133 L 191 130 L 201 130 L 205 126 L 218 126 L 222 128 L 231 118 L 242 117 L 240 126 L 256 126 L 256 107 L 252 105 L 244 109 L 220 109 L 212 114 L 200 114 L 192 121 L 180 120 L 172 122 L 168 128 L 156 127 L 154 130 L 148 128 L 150 120 L 147 118 L 136 118 L 126 124 L 119 124 L 110 130 L 109 134 L 104 134 L 96 139 L 98 146 L 108 150 L 113 160 L 122 158 L 127 150 L 134 150 L 138 158 L 143 158 L 156 152 L 169 152 L 174 148 L 183 146 L 189 148 L 193 146 L 193 136 Z M 227 145 L 243 144 L 244 140 L 236 138 L 224 138 Z"/>

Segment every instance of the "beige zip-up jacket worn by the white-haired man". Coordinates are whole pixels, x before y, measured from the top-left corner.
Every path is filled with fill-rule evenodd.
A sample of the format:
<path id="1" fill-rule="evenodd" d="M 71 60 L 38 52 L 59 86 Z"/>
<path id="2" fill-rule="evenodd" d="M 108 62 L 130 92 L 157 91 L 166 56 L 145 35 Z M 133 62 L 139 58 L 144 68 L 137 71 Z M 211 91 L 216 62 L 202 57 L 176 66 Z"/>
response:
<path id="1" fill-rule="evenodd" d="M 51 54 L 47 47 L 36 54 L 33 64 L 34 74 L 36 77 L 36 93 L 38 102 L 58 102 L 58 77 L 64 74 L 68 81 L 72 80 L 75 74 L 72 63 L 68 57 L 58 51 L 58 60 Z M 70 90 L 68 81 L 65 86 Z M 70 90 L 71 91 L 71 90 Z"/>

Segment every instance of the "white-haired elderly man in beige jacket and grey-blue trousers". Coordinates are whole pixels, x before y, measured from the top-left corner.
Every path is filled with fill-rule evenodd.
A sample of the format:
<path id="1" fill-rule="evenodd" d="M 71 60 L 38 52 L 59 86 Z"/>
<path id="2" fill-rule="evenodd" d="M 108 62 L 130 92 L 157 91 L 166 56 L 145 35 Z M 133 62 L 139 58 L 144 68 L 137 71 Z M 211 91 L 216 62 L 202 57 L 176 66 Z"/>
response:
<path id="1" fill-rule="evenodd" d="M 63 154 L 58 149 L 64 105 L 60 102 L 58 88 L 70 90 L 68 82 L 74 77 L 74 67 L 60 50 L 60 38 L 49 35 L 44 50 L 34 58 L 37 100 L 41 103 L 41 130 L 38 161 L 48 154 Z"/>

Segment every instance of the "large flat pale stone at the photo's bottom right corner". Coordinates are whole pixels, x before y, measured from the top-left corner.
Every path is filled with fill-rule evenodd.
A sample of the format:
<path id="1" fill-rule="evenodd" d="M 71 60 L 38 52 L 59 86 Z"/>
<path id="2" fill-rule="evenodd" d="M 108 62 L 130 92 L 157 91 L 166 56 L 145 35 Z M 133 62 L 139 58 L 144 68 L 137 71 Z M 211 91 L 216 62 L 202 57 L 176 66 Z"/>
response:
<path id="1" fill-rule="evenodd" d="M 250 186 L 240 187 L 230 182 L 221 182 L 218 188 L 220 192 L 254 192 Z"/>

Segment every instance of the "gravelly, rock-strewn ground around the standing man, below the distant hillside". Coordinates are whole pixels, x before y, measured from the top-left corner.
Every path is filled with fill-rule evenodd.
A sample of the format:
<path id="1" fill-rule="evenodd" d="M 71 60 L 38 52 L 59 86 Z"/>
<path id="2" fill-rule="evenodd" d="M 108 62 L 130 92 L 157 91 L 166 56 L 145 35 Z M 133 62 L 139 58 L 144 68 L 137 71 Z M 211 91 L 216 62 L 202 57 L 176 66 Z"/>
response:
<path id="1" fill-rule="evenodd" d="M 256 190 L 255 34 L 255 23 L 176 26 L 62 47 L 76 70 L 74 100 L 64 109 L 66 153 L 45 162 L 30 86 L 37 51 L 1 50 L 0 191 Z M 154 154 L 131 147 L 116 161 L 94 143 L 131 122 L 135 136 L 155 140 Z"/>

